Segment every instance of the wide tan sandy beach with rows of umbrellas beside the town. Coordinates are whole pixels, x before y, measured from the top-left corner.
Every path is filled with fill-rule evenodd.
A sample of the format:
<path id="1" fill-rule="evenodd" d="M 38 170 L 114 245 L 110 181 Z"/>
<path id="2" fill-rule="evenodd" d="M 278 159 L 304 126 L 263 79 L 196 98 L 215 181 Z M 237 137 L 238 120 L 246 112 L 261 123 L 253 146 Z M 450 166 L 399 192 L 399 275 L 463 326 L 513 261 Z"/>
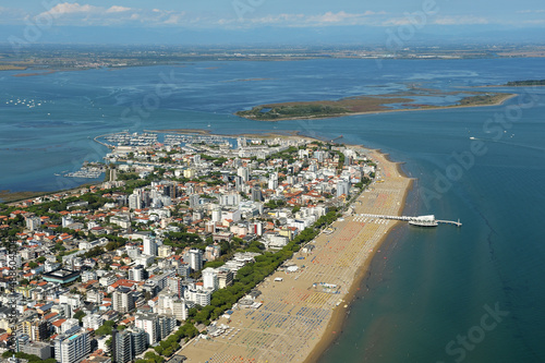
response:
<path id="1" fill-rule="evenodd" d="M 354 213 L 400 215 L 410 179 L 384 155 L 372 152 L 371 157 L 384 182 L 362 193 Z M 315 361 L 335 338 L 371 258 L 396 223 L 362 222 L 352 216 L 337 220 L 332 233 L 311 242 L 312 252 L 300 251 L 288 262 L 298 266 L 294 273 L 276 271 L 257 286 L 259 308 L 235 310 L 230 320 L 218 320 L 230 327 L 225 334 L 195 339 L 178 354 L 208 363 Z"/>

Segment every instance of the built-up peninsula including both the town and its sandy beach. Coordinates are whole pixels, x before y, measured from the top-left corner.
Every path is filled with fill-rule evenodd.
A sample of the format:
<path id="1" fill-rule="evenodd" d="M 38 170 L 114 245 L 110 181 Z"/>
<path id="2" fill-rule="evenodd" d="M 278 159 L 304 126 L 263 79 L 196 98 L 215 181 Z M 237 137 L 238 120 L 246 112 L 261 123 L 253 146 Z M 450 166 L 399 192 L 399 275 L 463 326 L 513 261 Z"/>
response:
<path id="1" fill-rule="evenodd" d="M 96 141 L 111 149 L 105 182 L 0 204 L 8 295 L 39 312 L 53 295 L 93 303 L 47 315 L 69 332 L 29 332 L 56 347 L 95 339 L 78 359 L 134 340 L 136 363 L 314 360 L 396 225 L 363 214 L 398 215 L 411 183 L 376 150 L 299 135 Z M 46 324 L 39 315 L 0 323 Z M 38 361 L 35 346 L 16 358 Z"/>

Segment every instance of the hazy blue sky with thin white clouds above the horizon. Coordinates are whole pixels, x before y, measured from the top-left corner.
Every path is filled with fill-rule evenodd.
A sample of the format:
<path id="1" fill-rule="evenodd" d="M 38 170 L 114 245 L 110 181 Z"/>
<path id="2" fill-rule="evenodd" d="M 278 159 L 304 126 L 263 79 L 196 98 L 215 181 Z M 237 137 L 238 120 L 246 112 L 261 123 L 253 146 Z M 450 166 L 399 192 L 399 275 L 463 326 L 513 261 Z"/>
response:
<path id="1" fill-rule="evenodd" d="M 356 43 L 385 34 L 411 38 L 488 34 L 493 38 L 494 32 L 500 36 L 508 31 L 521 40 L 545 40 L 545 2 L 0 0 L 0 43 L 10 38 L 28 43 Z"/>

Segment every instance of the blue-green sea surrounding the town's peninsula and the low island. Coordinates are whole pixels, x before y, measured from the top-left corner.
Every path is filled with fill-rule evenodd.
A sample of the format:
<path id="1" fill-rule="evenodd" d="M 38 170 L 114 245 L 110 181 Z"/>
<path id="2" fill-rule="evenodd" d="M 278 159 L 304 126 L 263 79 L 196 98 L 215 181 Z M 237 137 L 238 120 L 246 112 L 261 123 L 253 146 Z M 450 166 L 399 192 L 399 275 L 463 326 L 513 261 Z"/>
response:
<path id="1" fill-rule="evenodd" d="M 415 179 L 405 215 L 463 226 L 399 225 L 319 362 L 545 362 L 545 87 L 480 87 L 542 80 L 544 70 L 545 59 L 521 58 L 0 72 L 0 190 L 84 183 L 62 174 L 102 160 L 108 149 L 95 136 L 125 130 L 342 136 L 402 162 Z M 441 90 L 414 99 L 436 106 L 475 90 L 518 96 L 492 107 L 312 121 L 233 116 L 261 104 L 415 89 Z"/>

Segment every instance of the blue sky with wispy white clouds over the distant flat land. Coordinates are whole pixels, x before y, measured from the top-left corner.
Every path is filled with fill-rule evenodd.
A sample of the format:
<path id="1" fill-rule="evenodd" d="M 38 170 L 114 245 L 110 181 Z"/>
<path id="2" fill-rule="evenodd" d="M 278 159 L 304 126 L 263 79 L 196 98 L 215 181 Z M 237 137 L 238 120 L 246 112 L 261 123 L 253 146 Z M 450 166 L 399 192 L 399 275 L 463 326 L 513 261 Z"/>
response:
<path id="1" fill-rule="evenodd" d="M 0 24 L 2 33 L 13 34 L 38 26 L 43 33 L 50 33 L 41 37 L 44 41 L 52 41 L 55 32 L 61 34 L 63 28 L 71 28 L 74 35 L 81 32 L 85 39 L 89 38 L 88 32 L 100 34 L 101 28 L 134 29 L 135 39 L 146 29 L 156 34 L 216 32 L 218 35 L 266 28 L 270 33 L 275 29 L 327 33 L 332 28 L 343 28 L 347 34 L 363 28 L 384 33 L 385 28 L 400 26 L 414 26 L 431 34 L 470 32 L 472 27 L 545 31 L 545 3 L 543 0 L 0 0 Z"/>

